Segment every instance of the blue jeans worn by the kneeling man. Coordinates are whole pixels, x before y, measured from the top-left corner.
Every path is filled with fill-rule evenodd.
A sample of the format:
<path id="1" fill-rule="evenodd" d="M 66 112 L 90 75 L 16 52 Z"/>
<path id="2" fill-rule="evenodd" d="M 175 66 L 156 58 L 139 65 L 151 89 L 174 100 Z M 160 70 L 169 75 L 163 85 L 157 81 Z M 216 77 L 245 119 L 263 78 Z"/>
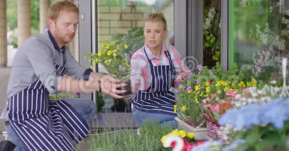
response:
<path id="1" fill-rule="evenodd" d="M 70 104 L 86 121 L 93 119 L 96 114 L 96 105 L 92 100 L 81 98 L 63 98 L 62 100 Z M 5 126 L 5 131 L 8 140 L 16 145 L 14 151 L 29 151 L 10 124 Z"/>

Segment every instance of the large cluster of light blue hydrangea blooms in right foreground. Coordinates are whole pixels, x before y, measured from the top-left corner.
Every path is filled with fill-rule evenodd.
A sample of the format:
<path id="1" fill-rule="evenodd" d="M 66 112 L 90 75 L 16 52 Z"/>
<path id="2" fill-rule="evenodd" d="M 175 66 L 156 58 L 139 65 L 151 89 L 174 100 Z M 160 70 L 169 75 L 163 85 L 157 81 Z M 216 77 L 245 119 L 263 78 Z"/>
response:
<path id="1" fill-rule="evenodd" d="M 266 104 L 253 103 L 240 109 L 228 110 L 219 120 L 221 125 L 230 123 L 236 130 L 252 126 L 273 124 L 277 129 L 289 120 L 289 98 L 277 98 Z"/>

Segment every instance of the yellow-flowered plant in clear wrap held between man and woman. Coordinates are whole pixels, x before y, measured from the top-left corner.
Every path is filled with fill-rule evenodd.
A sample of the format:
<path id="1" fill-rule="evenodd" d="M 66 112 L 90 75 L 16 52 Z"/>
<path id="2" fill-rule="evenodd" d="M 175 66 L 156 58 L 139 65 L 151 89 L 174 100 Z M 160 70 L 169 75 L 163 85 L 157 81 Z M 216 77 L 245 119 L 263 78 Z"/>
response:
<path id="1" fill-rule="evenodd" d="M 128 52 L 128 45 L 121 45 L 120 40 L 101 44 L 97 54 L 89 54 L 89 62 L 92 63 L 91 68 L 96 64 L 102 64 L 109 74 L 122 82 L 127 82 L 128 85 L 124 87 L 128 92 L 122 95 L 131 93 L 130 84 L 130 57 Z"/>

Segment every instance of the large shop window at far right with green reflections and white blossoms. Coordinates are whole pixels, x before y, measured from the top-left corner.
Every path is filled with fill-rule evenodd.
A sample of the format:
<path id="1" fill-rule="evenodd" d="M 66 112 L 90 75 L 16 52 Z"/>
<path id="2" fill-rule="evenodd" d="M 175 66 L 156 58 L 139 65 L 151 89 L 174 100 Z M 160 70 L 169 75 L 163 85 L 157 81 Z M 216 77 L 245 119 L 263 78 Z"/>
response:
<path id="1" fill-rule="evenodd" d="M 252 69 L 254 76 L 278 75 L 281 58 L 289 56 L 289 1 L 232 1 L 231 64 Z"/>

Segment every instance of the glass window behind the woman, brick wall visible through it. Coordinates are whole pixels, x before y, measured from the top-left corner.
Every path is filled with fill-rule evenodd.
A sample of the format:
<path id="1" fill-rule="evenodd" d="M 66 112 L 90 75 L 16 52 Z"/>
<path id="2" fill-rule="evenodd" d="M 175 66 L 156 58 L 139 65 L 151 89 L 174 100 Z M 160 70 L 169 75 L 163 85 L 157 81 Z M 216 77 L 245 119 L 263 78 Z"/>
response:
<path id="1" fill-rule="evenodd" d="M 174 0 L 97 0 L 97 36 L 98 48 L 106 44 L 117 43 L 127 45 L 130 56 L 144 45 L 142 20 L 151 12 L 160 11 L 164 14 L 167 26 L 167 43 L 174 44 Z M 109 45 L 111 46 L 111 45 Z M 98 64 L 100 73 L 111 69 Z M 99 111 L 130 112 L 129 100 L 117 100 L 100 94 L 97 99 Z"/>

